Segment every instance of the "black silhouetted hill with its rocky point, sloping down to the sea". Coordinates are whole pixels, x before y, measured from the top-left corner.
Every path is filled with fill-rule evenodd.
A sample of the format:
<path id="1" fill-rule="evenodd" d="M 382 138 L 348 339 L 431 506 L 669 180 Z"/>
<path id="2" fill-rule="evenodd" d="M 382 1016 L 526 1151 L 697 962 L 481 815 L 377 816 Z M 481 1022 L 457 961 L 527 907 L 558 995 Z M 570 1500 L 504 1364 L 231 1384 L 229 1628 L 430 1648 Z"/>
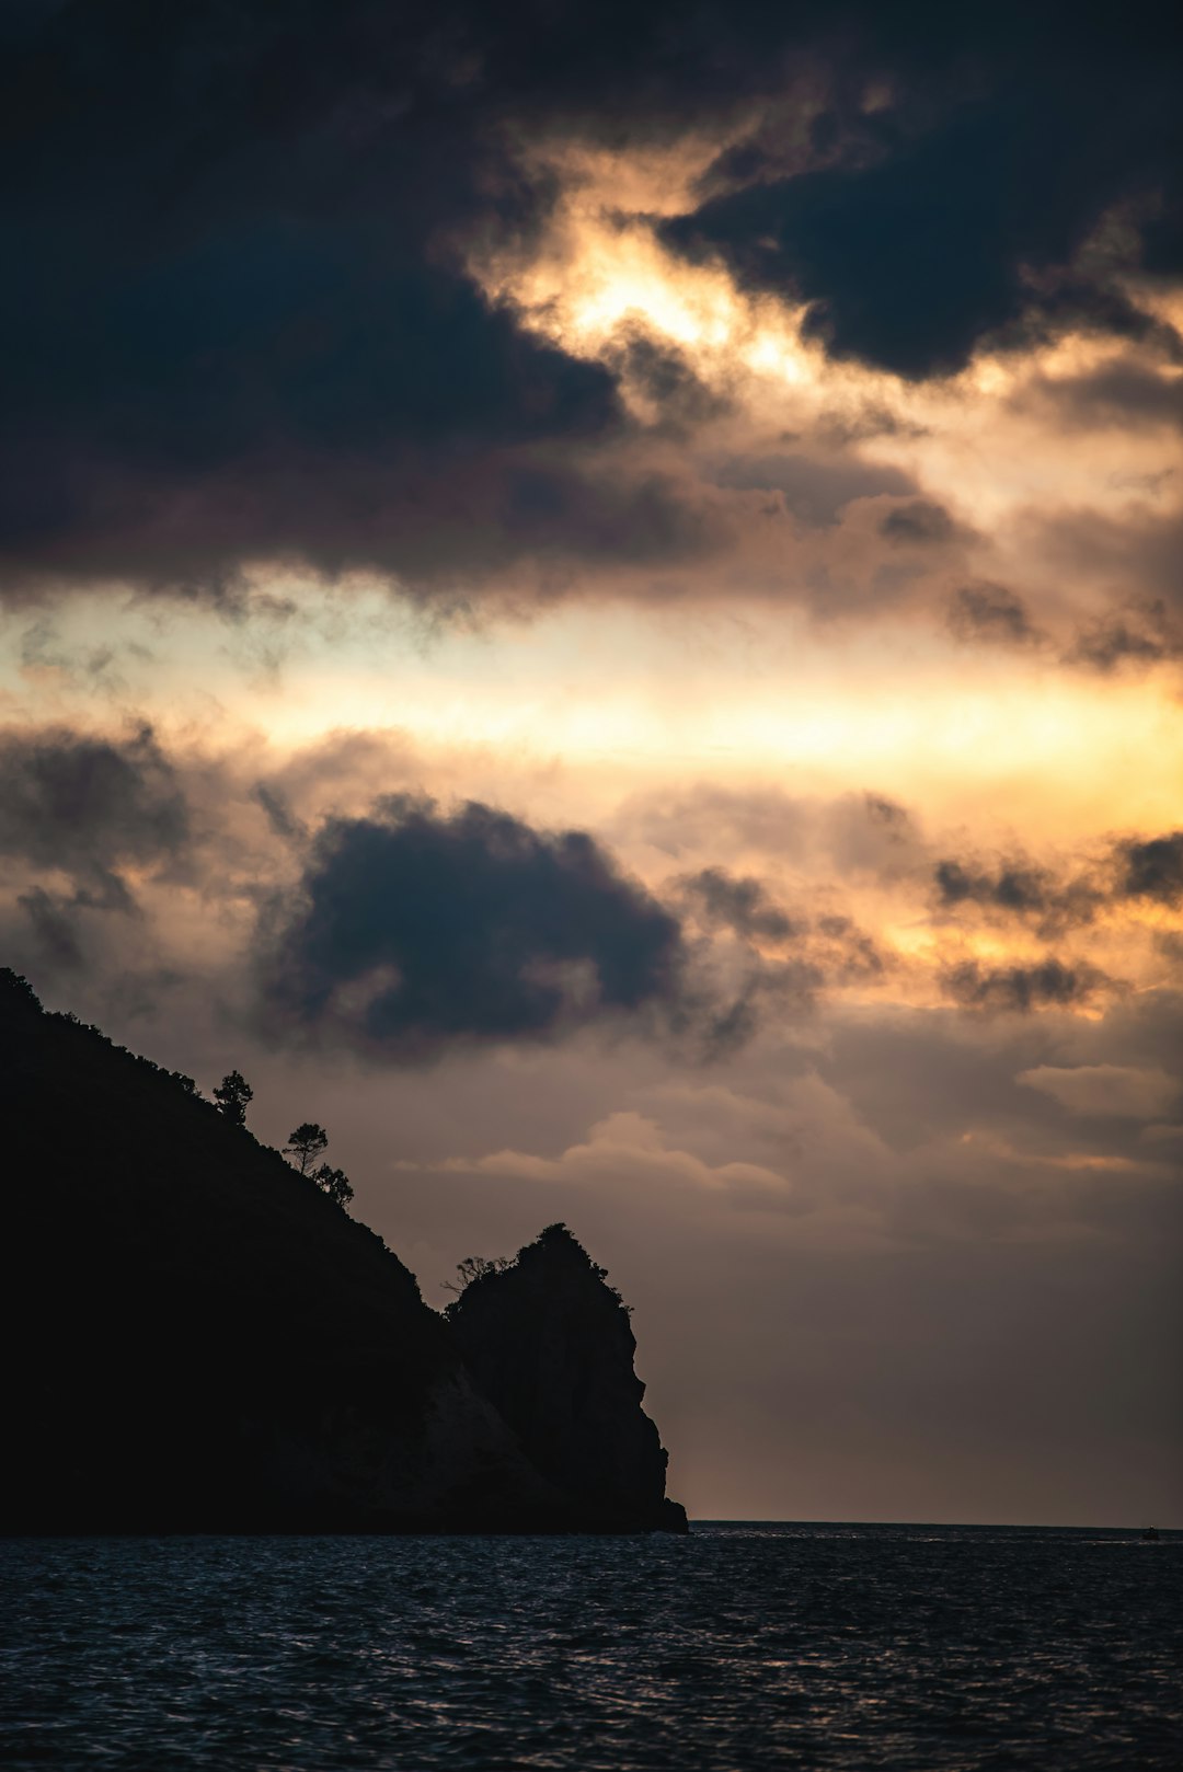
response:
<path id="1" fill-rule="evenodd" d="M 449 1317 L 188 1079 L 0 971 L 7 1531 L 679 1529 L 552 1226 Z"/>

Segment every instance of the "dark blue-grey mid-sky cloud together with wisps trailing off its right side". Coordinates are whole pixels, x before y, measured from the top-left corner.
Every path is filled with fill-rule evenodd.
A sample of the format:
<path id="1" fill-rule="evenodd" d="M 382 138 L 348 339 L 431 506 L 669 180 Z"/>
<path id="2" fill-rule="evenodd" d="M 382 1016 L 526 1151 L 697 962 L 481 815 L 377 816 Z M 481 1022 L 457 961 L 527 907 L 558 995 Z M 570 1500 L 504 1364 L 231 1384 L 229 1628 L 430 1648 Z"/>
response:
<path id="1" fill-rule="evenodd" d="M 706 868 L 662 904 L 584 831 L 410 796 L 321 826 L 261 952 L 271 1037 L 394 1061 L 614 1022 L 711 1061 L 885 971 L 850 918 L 789 918 L 757 879 Z"/>

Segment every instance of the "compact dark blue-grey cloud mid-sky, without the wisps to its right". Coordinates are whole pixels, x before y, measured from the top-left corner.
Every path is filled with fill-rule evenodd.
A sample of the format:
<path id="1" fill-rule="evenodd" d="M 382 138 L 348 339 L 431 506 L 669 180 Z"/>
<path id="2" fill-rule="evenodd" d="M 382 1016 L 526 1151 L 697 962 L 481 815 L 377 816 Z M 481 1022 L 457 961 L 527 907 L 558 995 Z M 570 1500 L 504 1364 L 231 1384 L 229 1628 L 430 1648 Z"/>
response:
<path id="1" fill-rule="evenodd" d="M 317 833 L 264 998 L 280 1030 L 413 1060 L 670 1006 L 681 968 L 678 921 L 584 831 L 388 797 Z"/>

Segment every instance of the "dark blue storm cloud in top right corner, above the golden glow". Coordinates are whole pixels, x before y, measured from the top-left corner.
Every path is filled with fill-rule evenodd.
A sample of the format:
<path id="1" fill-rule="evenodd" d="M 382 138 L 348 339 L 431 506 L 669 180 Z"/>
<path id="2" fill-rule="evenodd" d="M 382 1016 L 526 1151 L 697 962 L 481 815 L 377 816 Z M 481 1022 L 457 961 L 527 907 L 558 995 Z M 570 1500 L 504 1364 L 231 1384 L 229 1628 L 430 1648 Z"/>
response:
<path id="1" fill-rule="evenodd" d="M 1119 27 L 1059 7 L 837 11 L 839 41 L 812 165 L 786 177 L 775 156 L 731 151 L 738 188 L 669 223 L 670 241 L 807 301 L 835 356 L 906 377 L 958 370 L 991 335 L 1149 330 L 1109 266 L 1073 260 L 1110 207 L 1158 200 L 1144 259 L 1171 275 L 1183 264 L 1165 9 Z M 867 112 L 874 78 L 890 97 Z M 718 168 L 706 190 L 717 183 Z"/>

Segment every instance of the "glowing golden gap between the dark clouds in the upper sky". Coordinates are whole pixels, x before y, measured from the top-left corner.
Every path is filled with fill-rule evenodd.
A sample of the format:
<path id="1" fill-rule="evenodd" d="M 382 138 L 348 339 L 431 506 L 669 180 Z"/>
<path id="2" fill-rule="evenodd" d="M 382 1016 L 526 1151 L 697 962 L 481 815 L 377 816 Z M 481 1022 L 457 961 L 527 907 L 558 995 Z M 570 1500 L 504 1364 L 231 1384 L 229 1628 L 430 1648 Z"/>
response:
<path id="1" fill-rule="evenodd" d="M 1007 558 L 997 533 L 1036 503 L 1119 516 L 1133 491 L 1153 509 L 1178 501 L 1183 450 L 1165 415 L 1124 429 L 1123 473 L 1114 477 L 1112 439 L 1071 425 L 1057 406 L 1057 390 L 1119 363 L 1128 340 L 1068 333 L 1023 351 L 981 349 L 958 376 L 913 385 L 828 360 L 803 338 L 805 308 L 787 289 L 759 296 L 722 262 L 670 252 L 658 222 L 695 207 L 695 179 L 718 145 L 688 142 L 635 159 L 569 144 L 550 158 L 536 151 L 564 183 L 552 223 L 529 257 L 486 257 L 474 262 L 475 275 L 493 299 L 573 354 L 619 370 L 621 346 L 637 333 L 679 349 L 748 431 L 807 434 L 835 413 L 855 422 L 878 415 L 858 454 L 915 475 L 929 496 L 990 533 L 1009 569 L 1041 574 L 1038 560 Z M 1146 312 L 1174 314 L 1176 298 L 1158 291 L 1132 298 Z M 1163 365 L 1155 372 L 1172 374 Z M 644 418 L 646 397 L 630 386 L 628 369 L 623 390 Z M 734 431 L 738 420 L 718 424 Z"/>

